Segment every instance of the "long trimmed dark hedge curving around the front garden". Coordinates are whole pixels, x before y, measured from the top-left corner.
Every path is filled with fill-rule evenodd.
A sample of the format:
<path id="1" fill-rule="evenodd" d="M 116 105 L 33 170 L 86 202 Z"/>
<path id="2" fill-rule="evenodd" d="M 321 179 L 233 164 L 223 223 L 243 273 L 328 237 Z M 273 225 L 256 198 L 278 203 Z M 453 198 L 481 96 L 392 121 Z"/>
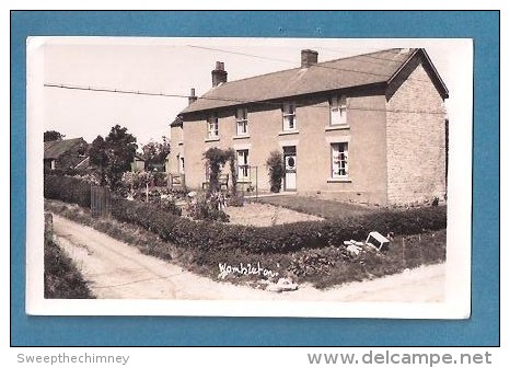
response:
<path id="1" fill-rule="evenodd" d="M 339 220 L 286 223 L 266 228 L 193 221 L 158 210 L 153 205 L 117 199 L 112 215 L 139 225 L 162 240 L 201 250 L 237 249 L 250 253 L 288 253 L 300 249 L 364 240 L 370 231 L 415 234 L 447 227 L 447 207 L 381 211 Z"/>

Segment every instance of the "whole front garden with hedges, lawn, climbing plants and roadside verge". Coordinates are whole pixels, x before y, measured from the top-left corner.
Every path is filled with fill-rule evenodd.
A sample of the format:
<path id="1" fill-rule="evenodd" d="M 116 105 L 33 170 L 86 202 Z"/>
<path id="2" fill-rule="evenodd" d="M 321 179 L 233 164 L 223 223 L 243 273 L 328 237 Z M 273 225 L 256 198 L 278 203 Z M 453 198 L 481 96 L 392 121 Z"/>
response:
<path id="1" fill-rule="evenodd" d="M 167 187 L 164 173 L 150 171 L 100 179 L 45 175 L 45 207 L 146 254 L 257 288 L 280 278 L 326 288 L 445 260 L 445 206 L 374 208 L 295 195 L 245 200 L 237 191 L 235 152 L 212 148 L 204 159 L 208 185 L 193 192 Z M 281 153 L 273 152 L 267 168 L 271 192 L 278 193 Z M 221 182 L 225 169 L 227 188 Z M 100 184 L 111 188 L 108 212 L 93 217 L 92 188 Z M 390 246 L 380 251 L 366 244 L 372 231 L 386 235 Z M 267 273 L 254 277 L 251 269 Z"/>

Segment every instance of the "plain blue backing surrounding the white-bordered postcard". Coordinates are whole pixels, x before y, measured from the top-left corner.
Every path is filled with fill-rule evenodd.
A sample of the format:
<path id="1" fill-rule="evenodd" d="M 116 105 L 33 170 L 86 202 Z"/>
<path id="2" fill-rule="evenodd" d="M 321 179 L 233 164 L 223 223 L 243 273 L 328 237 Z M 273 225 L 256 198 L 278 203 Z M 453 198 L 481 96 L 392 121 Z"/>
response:
<path id="1" fill-rule="evenodd" d="M 43 35 L 473 38 L 472 318 L 406 321 L 26 315 L 25 39 Z M 11 216 L 13 346 L 499 345 L 499 12 L 12 12 Z"/>

